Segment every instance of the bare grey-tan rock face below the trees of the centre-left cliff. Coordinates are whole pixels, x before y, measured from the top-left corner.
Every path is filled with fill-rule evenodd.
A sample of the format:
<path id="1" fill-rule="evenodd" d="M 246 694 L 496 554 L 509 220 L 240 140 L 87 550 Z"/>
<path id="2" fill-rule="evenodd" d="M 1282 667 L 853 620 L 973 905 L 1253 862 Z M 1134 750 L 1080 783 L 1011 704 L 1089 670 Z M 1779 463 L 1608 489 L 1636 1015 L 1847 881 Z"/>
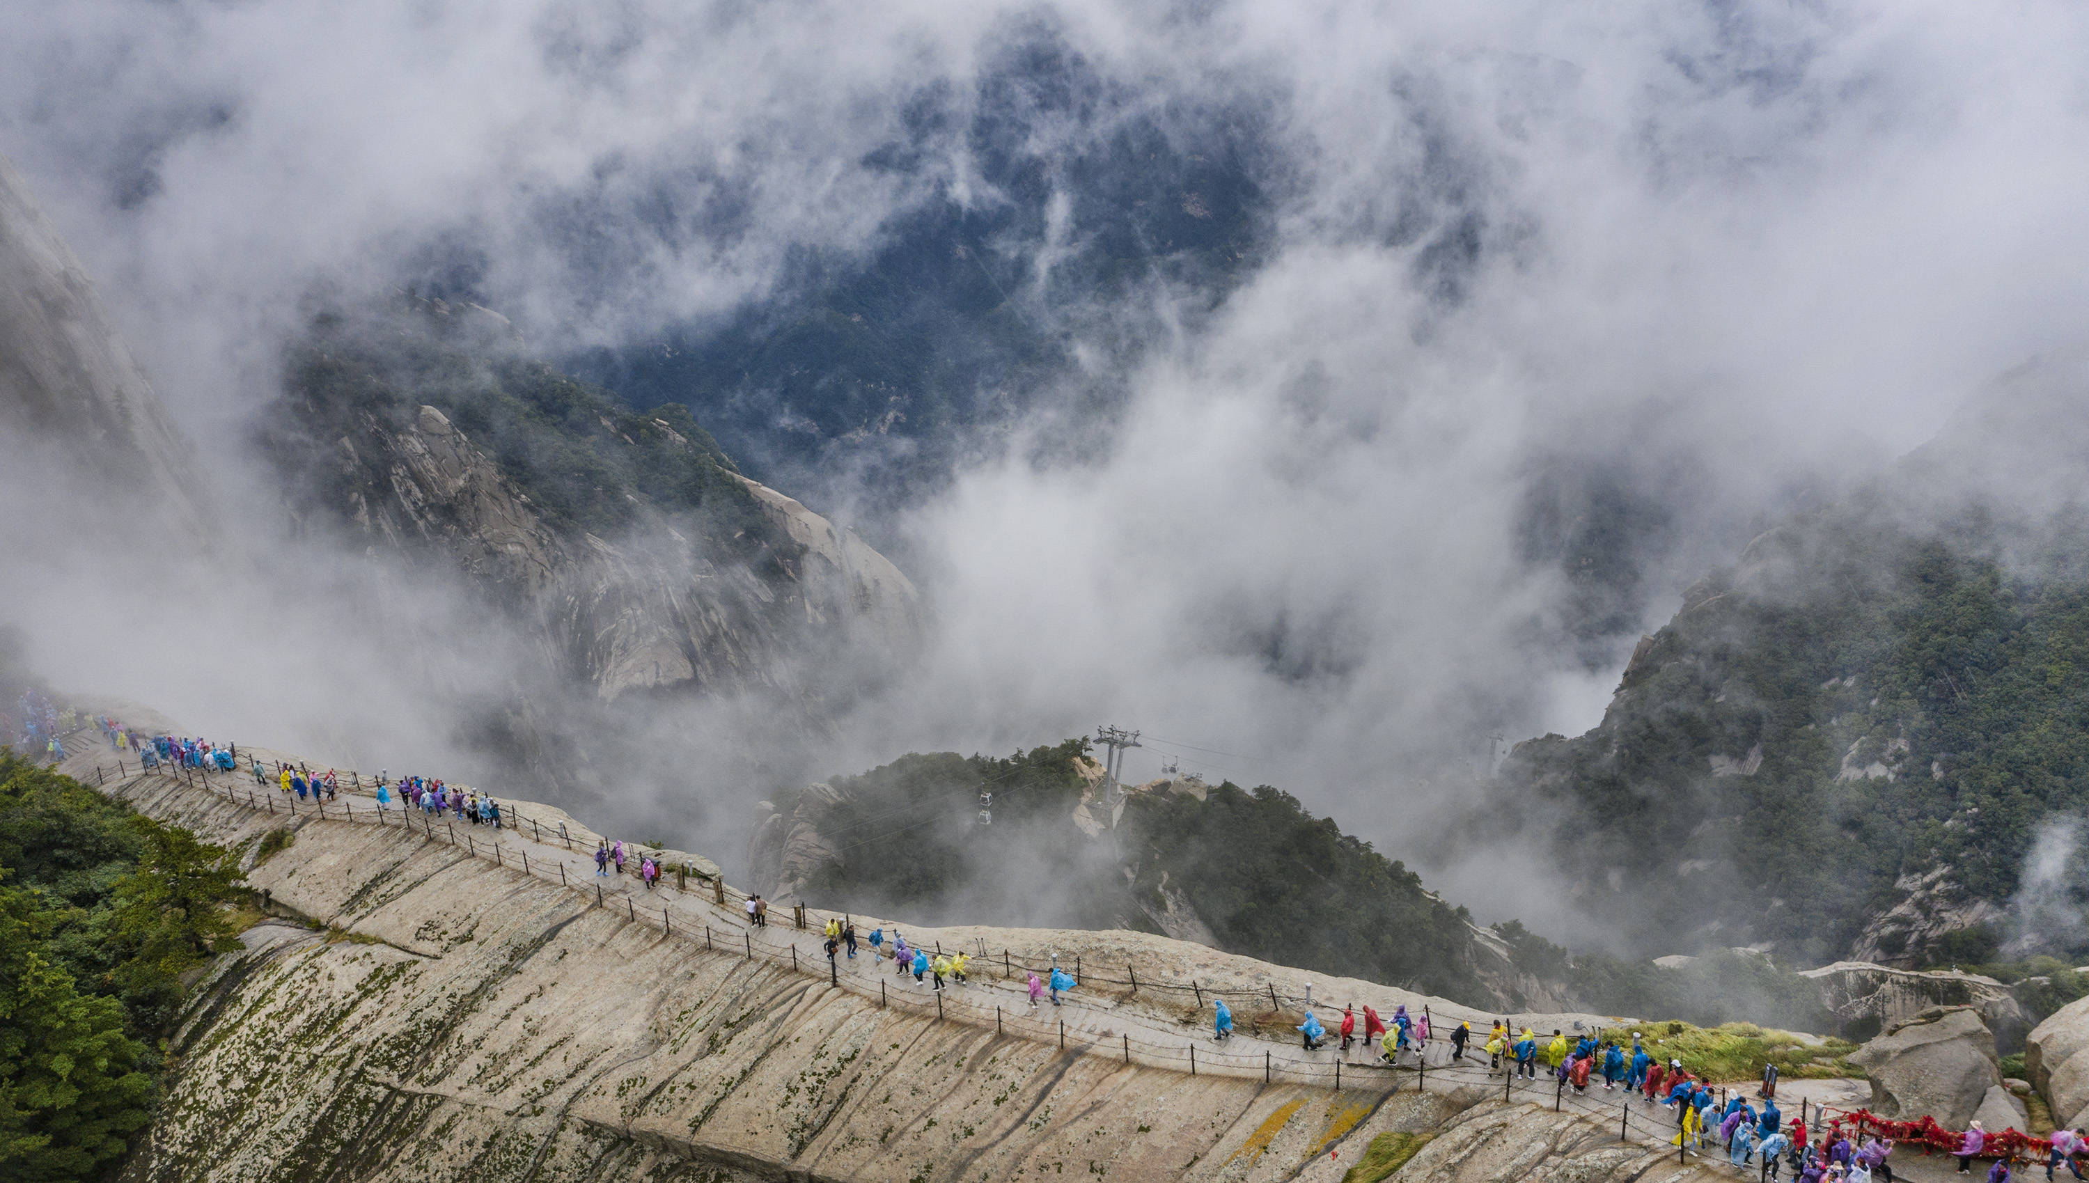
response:
<path id="1" fill-rule="evenodd" d="M 357 422 L 338 441 L 349 525 L 391 552 L 455 564 L 535 621 L 556 660 L 604 700 L 767 690 L 802 702 L 819 696 L 804 663 L 894 660 L 915 644 L 921 598 L 892 562 L 744 477 L 752 504 L 796 548 L 765 573 L 668 516 L 614 541 L 554 529 L 432 405 L 403 428 L 376 414 Z"/>

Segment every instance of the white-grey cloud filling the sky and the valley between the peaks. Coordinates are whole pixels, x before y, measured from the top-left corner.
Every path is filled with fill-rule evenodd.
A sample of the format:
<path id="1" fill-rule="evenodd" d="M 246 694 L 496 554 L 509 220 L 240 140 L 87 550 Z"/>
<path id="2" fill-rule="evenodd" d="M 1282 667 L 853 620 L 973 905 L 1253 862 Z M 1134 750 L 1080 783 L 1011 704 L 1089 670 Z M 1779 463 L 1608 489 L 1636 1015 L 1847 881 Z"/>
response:
<path id="1" fill-rule="evenodd" d="M 1429 846 L 1494 734 L 1594 723 L 1629 650 L 1632 627 L 1577 633 L 1571 573 L 1529 554 L 1548 474 L 1617 474 L 1671 514 L 1634 558 L 1627 614 L 1652 621 L 1765 514 L 2070 341 L 2089 295 L 2089 15 L 2058 2 L 6 21 L 0 150 L 205 441 L 272 393 L 315 284 L 464 286 L 545 351 L 614 347 L 769 299 L 808 253 L 865 257 L 930 203 L 1019 203 L 982 153 L 1036 157 L 1053 196 L 994 249 L 1072 368 L 884 523 L 936 604 L 930 648 L 777 767 L 1120 721 L 1174 744 L 1134 773 L 1172 752 L 1276 782 L 1393 853 Z M 1078 63 L 1082 94 L 982 142 L 982 79 L 1024 46 Z M 1253 123 L 1260 255 L 1216 305 L 1055 288 L 1097 211 L 1051 161 L 1134 117 L 1210 125 L 1184 111 Z M 1095 382 L 1124 399 L 1070 414 Z M 213 472 L 267 512 L 249 466 Z M 790 491 L 846 516 L 850 481 Z M 725 842 L 760 786 L 717 782 Z"/>

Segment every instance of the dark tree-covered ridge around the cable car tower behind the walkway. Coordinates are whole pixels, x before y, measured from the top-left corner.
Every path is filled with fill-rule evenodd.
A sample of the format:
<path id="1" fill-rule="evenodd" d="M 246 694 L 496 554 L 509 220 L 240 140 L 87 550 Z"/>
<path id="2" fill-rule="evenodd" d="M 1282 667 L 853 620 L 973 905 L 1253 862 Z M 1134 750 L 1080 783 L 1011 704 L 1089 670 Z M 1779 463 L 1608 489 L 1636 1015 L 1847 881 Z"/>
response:
<path id="1" fill-rule="evenodd" d="M 1189 913 L 1233 953 L 1479 993 L 1464 913 L 1291 794 L 1233 784 L 1205 801 L 1141 792 L 1116 834 L 1090 838 L 1072 821 L 1095 790 L 1076 763 L 1084 752 L 1067 740 L 1009 759 L 909 755 L 834 778 L 836 803 L 817 821 L 829 855 L 806 895 L 963 924 L 1161 932 L 1159 915 Z M 990 826 L 978 821 L 982 788 L 994 794 Z M 777 807 L 790 813 L 798 801 Z M 1101 803 L 1090 809 L 1099 815 Z"/>

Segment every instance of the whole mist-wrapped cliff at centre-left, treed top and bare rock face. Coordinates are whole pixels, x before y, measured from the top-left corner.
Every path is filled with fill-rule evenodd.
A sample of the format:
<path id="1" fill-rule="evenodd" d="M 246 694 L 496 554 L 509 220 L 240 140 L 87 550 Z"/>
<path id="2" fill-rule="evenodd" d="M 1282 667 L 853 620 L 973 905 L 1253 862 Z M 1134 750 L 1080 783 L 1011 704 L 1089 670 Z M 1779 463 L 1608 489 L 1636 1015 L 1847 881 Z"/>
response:
<path id="1" fill-rule="evenodd" d="M 604 700 L 817 715 L 836 669 L 917 637 L 919 594 L 854 533 L 735 472 L 687 410 L 633 414 L 531 359 L 487 309 L 322 316 L 263 439 L 311 529 L 464 573 Z"/>

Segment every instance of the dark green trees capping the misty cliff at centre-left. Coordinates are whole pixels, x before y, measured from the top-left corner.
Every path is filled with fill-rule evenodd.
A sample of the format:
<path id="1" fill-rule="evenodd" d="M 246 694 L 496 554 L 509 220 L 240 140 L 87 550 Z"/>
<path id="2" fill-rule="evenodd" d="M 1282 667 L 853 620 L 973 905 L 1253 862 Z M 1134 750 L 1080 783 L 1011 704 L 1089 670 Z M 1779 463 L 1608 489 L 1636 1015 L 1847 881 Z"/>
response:
<path id="1" fill-rule="evenodd" d="M 658 512 L 696 520 L 744 560 L 796 550 L 685 405 L 633 414 L 524 355 L 489 314 L 439 301 L 315 318 L 290 349 L 269 456 L 290 489 L 334 512 L 357 489 L 384 500 L 370 433 L 403 431 L 422 405 L 449 416 L 554 529 L 610 537 Z"/>

